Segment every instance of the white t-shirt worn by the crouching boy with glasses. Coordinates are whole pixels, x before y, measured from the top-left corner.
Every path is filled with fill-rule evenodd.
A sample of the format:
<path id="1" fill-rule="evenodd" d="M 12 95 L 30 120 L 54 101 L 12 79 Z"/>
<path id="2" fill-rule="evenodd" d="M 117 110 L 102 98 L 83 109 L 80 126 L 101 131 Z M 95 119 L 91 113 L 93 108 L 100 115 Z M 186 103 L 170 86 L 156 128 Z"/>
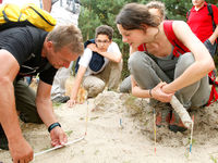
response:
<path id="1" fill-rule="evenodd" d="M 120 49 L 119 49 L 119 47 L 116 42 L 110 43 L 107 52 L 121 53 Z M 84 76 L 88 76 L 88 75 L 92 75 L 92 74 L 99 74 L 100 72 L 102 72 L 102 70 L 106 67 L 106 65 L 109 63 L 109 60 L 107 58 L 104 58 L 105 64 L 102 65 L 102 67 L 98 72 L 94 72 L 88 66 L 92 57 L 93 57 L 93 51 L 89 48 L 86 48 L 84 50 L 83 55 L 81 57 L 81 60 L 78 61 L 78 65 L 83 65 L 83 66 L 87 67 Z"/>

